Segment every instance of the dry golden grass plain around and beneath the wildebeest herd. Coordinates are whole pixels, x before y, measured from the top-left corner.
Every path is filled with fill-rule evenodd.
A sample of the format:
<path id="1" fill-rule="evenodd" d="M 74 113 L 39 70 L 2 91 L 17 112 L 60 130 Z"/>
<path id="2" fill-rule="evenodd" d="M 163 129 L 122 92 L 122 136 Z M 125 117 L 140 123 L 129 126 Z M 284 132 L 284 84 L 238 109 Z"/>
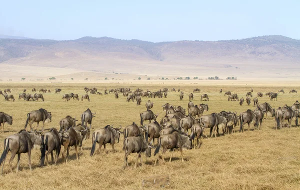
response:
<path id="1" fill-rule="evenodd" d="M 200 84 L 108 84 L 108 83 L 1 83 L 0 89 L 12 88 L 15 95 L 14 102 L 4 101 L 0 97 L 1 108 L 13 116 L 13 124 L 5 124 L 4 133 L 0 133 L 0 151 L 3 150 L 1 141 L 10 134 L 16 133 L 23 128 L 26 114 L 40 107 L 52 113 L 52 122 L 46 123 L 45 128 L 56 127 L 61 118 L 66 115 L 79 118 L 82 111 L 90 108 L 96 111 L 96 117 L 92 121 L 92 129 L 104 127 L 107 124 L 122 127 L 133 121 L 139 123 L 139 113 L 145 110 L 144 103 L 148 98 L 142 98 L 142 105 L 135 102 L 125 102 L 125 97 L 114 98 L 113 94 L 90 95 L 88 101 L 63 101 L 64 93 L 84 94 L 83 87 L 97 87 L 103 92 L 104 88 L 130 87 L 136 89 L 157 90 L 159 88 L 175 87 L 184 91 L 182 101 L 179 101 L 178 92 L 169 92 L 167 98 L 150 98 L 154 102 L 154 113 L 159 113 L 158 120 L 164 114 L 161 105 L 168 102 L 173 105 L 187 107 L 188 93 L 193 88 L 201 89 L 200 93 L 194 93 L 194 103 L 200 103 L 200 94 L 209 95 L 209 111 L 207 113 L 231 110 L 240 113 L 246 109 L 254 109 L 253 102 L 248 106 L 244 102 L 242 106 L 236 101 L 227 101 L 227 97 L 219 94 L 219 88 L 223 91 L 230 90 L 244 97 L 250 90 L 249 86 L 228 84 L 200 85 Z M 23 88 L 51 89 L 51 93 L 45 93 L 44 102 L 18 100 L 18 94 Z M 61 87 L 60 94 L 54 94 L 54 89 Z M 279 94 L 277 101 L 270 101 L 269 97 L 258 98 L 260 103 L 269 102 L 272 107 L 291 105 L 299 99 L 298 94 L 288 94 L 289 89 L 297 89 L 296 86 L 257 85 L 251 86 L 254 95 L 258 92 L 277 91 L 283 88 L 285 94 Z M 294 122 L 293 122 L 294 125 Z M 253 128 L 253 126 L 251 126 Z M 235 128 L 238 130 L 238 127 Z M 208 130 L 205 131 L 208 134 Z M 9 172 L 6 158 L 4 174 L 0 176 L 2 189 L 141 189 L 143 178 L 152 175 L 168 174 L 170 183 L 166 188 L 170 189 L 299 189 L 300 188 L 300 128 L 274 129 L 274 118 L 270 115 L 263 120 L 261 130 L 236 132 L 234 134 L 219 136 L 216 138 L 204 138 L 199 149 L 184 150 L 185 161 L 180 160 L 179 152 L 174 152 L 171 163 L 162 163 L 153 166 L 153 154 L 143 161 L 146 164 L 133 168 L 136 154 L 128 156 L 129 169 L 122 170 L 123 156 L 122 139 L 114 147 L 116 152 L 111 151 L 110 145 L 106 146 L 106 152 L 100 152 L 93 157 L 89 156 L 91 139 L 83 141 L 83 151 L 80 151 L 79 162 L 75 159 L 74 150 L 70 151 L 70 161 L 62 163 L 61 155 L 58 165 L 49 164 L 39 167 L 38 159 L 40 151 L 35 149 L 31 154 L 33 165 L 29 171 L 27 155 L 21 155 L 20 171 Z M 156 143 L 156 140 L 155 140 Z M 152 151 L 153 152 L 153 151 Z M 169 152 L 165 158 L 168 159 Z M 145 161 L 146 160 L 146 161 Z M 13 168 L 16 167 L 16 158 Z"/>

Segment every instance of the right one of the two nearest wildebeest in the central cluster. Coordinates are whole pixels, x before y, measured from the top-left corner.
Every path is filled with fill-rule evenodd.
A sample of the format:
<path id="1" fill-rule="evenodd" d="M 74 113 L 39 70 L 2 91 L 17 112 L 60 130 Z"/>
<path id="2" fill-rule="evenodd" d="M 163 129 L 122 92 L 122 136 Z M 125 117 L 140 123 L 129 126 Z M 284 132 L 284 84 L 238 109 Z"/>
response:
<path id="1" fill-rule="evenodd" d="M 183 160 L 183 155 L 182 155 L 182 148 L 186 149 L 191 149 L 192 148 L 192 142 L 191 140 L 194 138 L 194 135 L 191 134 L 190 136 L 184 135 L 184 134 L 179 134 L 177 131 L 174 131 L 169 134 L 163 134 L 159 136 L 158 138 L 158 146 L 155 148 L 154 155 L 156 155 L 159 152 L 160 147 L 162 146 L 162 153 L 161 153 L 161 158 L 162 161 L 164 162 L 164 153 L 167 149 L 171 149 L 171 155 L 169 162 L 171 162 L 172 159 L 172 154 L 174 148 L 179 148 L 180 155 L 181 155 L 181 160 Z M 154 165 L 157 163 L 159 154 L 157 154 Z"/>

